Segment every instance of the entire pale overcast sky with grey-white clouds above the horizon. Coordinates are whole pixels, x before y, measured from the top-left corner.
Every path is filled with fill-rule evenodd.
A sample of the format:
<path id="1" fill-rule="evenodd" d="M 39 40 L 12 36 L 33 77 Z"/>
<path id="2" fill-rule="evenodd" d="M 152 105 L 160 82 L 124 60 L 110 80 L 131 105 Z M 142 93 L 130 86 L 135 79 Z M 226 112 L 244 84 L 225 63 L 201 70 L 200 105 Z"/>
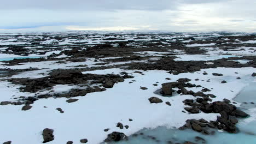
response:
<path id="1" fill-rule="evenodd" d="M 256 32 L 255 0 L 8 0 L 0 32 Z"/>

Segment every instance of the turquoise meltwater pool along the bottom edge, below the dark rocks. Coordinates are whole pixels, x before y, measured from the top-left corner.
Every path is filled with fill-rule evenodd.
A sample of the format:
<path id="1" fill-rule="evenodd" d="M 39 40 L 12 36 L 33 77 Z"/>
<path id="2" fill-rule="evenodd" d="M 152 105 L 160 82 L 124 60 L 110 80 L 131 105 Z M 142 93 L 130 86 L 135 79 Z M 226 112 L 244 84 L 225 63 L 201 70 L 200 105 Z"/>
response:
<path id="1" fill-rule="evenodd" d="M 166 127 L 158 127 L 156 129 L 143 129 L 139 131 L 137 136 L 129 136 L 129 141 L 116 142 L 118 144 L 132 143 L 132 144 L 148 144 L 148 143 L 184 143 L 190 141 L 194 143 L 208 143 L 208 144 L 249 144 L 256 143 L 256 135 L 246 134 L 242 131 L 238 134 L 221 133 L 215 131 L 214 135 L 202 135 L 193 130 L 177 130 L 167 129 Z M 142 135 L 141 135 L 142 134 Z M 197 140 L 196 137 L 202 137 L 204 140 Z"/>

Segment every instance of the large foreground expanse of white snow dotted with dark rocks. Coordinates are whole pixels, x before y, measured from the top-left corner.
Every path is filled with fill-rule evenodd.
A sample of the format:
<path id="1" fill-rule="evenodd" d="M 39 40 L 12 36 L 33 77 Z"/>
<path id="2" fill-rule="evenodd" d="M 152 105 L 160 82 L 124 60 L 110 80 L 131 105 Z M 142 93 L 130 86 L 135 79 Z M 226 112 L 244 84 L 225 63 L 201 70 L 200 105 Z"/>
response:
<path id="1" fill-rule="evenodd" d="M 169 82 L 165 80 L 170 77 L 175 81 L 181 77 L 188 77 L 191 83 L 202 85 L 207 88 L 213 88 L 212 94 L 217 95 L 213 101 L 222 100 L 223 98 L 232 99 L 238 94 L 243 87 L 247 85 L 245 81 L 237 80 L 236 77 L 249 76 L 254 68 L 217 68 L 202 69 L 194 74 L 184 73 L 171 75 L 166 71 L 150 70 L 143 71 L 144 75 L 133 73 L 133 70 L 126 70 L 130 75 L 135 76 L 133 79 L 126 79 L 124 82 L 116 83 L 113 88 L 104 92 L 86 94 L 84 97 L 76 97 L 79 100 L 75 103 L 68 104 L 66 98 L 48 98 L 39 99 L 32 104 L 32 109 L 21 111 L 22 106 L 1 106 L 0 113 L 2 119 L 2 129 L 0 130 L 1 141 L 11 140 L 13 143 L 42 143 L 42 130 L 44 128 L 54 129 L 55 140 L 48 143 L 65 143 L 69 140 L 79 143 L 80 139 L 88 139 L 88 143 L 100 143 L 106 139 L 107 134 L 112 131 L 120 131 L 126 135 L 131 135 L 143 128 L 156 128 L 158 126 L 180 127 L 190 118 L 205 118 L 214 120 L 218 114 L 198 113 L 189 115 L 181 112 L 185 107 L 182 101 L 184 99 L 194 98 L 192 95 L 182 95 L 175 97 L 161 97 L 153 92 L 161 88 L 160 84 Z M 120 73 L 121 69 L 106 69 L 86 71 L 85 73 L 106 74 Z M 206 71 L 209 75 L 202 75 Z M 234 72 L 239 74 L 235 74 Z M 216 77 L 211 73 L 222 73 L 223 77 Z M 194 81 L 194 79 L 205 81 Z M 206 80 L 211 79 L 211 82 Z M 253 79 L 253 78 L 252 78 Z M 131 80 L 136 80 L 129 83 Z M 226 80 L 222 87 L 220 81 Z M 158 81 L 159 86 L 153 84 Z M 8 82 L 1 81 L 1 91 L 4 91 L 0 101 L 8 100 L 9 95 L 24 95 L 14 87 L 7 87 Z M 143 91 L 139 87 L 147 87 Z M 57 92 L 66 91 L 66 86 L 55 86 Z M 190 89 L 189 89 L 190 90 Z M 201 88 L 191 88 L 193 91 L 200 91 Z M 233 92 L 231 92 L 233 91 Z M 148 98 L 159 97 L 164 103 L 150 104 Z M 168 106 L 165 101 L 172 104 Z M 239 105 L 239 104 L 237 104 Z M 47 106 L 44 108 L 43 106 Z M 64 113 L 55 110 L 61 107 Z M 31 117 L 33 116 L 33 117 Z M 129 122 L 129 118 L 133 121 Z M 19 119 L 17 122 L 16 119 Z M 121 122 L 129 125 L 129 129 L 119 129 L 115 125 Z M 22 124 L 21 124 L 22 123 Z M 106 133 L 103 130 L 110 128 Z M 21 135 L 22 134 L 22 135 Z"/>

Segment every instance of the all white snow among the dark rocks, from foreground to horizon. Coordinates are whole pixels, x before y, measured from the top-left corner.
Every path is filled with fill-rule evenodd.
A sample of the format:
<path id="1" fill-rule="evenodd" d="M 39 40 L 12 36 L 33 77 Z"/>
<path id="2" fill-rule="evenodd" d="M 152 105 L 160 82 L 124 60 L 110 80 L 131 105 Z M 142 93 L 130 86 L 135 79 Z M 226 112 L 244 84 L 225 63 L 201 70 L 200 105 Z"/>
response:
<path id="1" fill-rule="evenodd" d="M 82 33 L 83 34 L 83 33 Z M 50 35 L 50 34 L 49 34 Z M 61 34 L 60 34 L 61 35 Z M 72 34 L 71 34 L 72 35 Z M 170 42 L 173 42 L 174 38 L 183 39 L 185 37 L 197 36 L 197 39 L 203 39 L 208 36 L 204 34 L 189 34 L 184 33 L 183 35 L 172 35 L 172 34 L 162 34 L 154 35 L 154 40 L 165 39 L 167 46 Z M 243 35 L 243 34 L 235 34 Z M 18 38 L 7 39 L 12 35 L 4 34 L 1 36 L 0 45 L 13 45 L 27 44 L 27 41 L 22 41 L 21 39 L 26 38 L 28 41 L 34 37 L 38 39 L 43 39 L 44 37 L 40 34 L 34 37 L 20 36 Z M 220 34 L 213 33 L 212 36 L 219 37 Z M 116 38 L 116 39 L 111 39 Z M 20 39 L 20 40 L 19 40 Z M 104 40 L 105 39 L 105 40 Z M 106 40 L 110 39 L 110 40 Z M 124 40 L 123 40 L 124 39 Z M 59 46 L 62 50 L 71 50 L 70 45 L 76 45 L 75 43 L 84 43 L 84 45 L 94 45 L 101 44 L 104 42 L 113 41 L 150 41 L 152 40 L 152 35 L 130 35 L 127 33 L 121 33 L 120 35 L 104 36 L 102 34 L 94 35 L 84 35 L 83 39 L 77 38 L 63 38 L 61 40 L 47 38 L 41 44 L 52 44 L 53 46 Z M 56 43 L 55 43 L 56 42 Z M 191 40 L 183 40 L 183 43 L 190 43 Z M 241 41 L 237 41 L 240 43 Z M 31 43 L 31 42 L 30 42 Z M 155 43 L 155 42 L 154 42 Z M 255 40 L 242 41 L 245 44 L 254 44 Z M 65 45 L 65 46 L 63 46 Z M 68 45 L 68 46 L 67 46 Z M 129 44 L 132 46 L 133 44 Z M 137 46 L 137 45 L 136 45 Z M 135 63 L 135 62 L 145 62 L 148 63 L 149 60 L 160 59 L 161 57 L 176 56 L 174 61 L 210 61 L 229 57 L 241 57 L 241 56 L 255 56 L 255 47 L 240 47 L 242 50 L 239 51 L 224 51 L 216 47 L 215 43 L 210 44 L 188 44 L 188 48 L 200 47 L 200 49 L 205 49 L 208 52 L 205 54 L 188 55 L 184 50 L 167 50 L 166 52 L 158 51 L 137 51 L 133 52 L 134 56 L 155 56 L 147 60 L 142 61 L 125 61 L 125 62 L 110 62 L 104 65 L 98 65 L 102 61 L 107 59 L 117 59 L 124 58 L 122 56 L 117 57 L 105 57 L 101 58 L 100 61 L 95 61 L 96 58 L 86 58 L 84 62 L 70 62 L 62 59 L 64 63 L 57 63 L 60 61 L 42 61 L 42 62 L 30 62 L 30 63 L 20 63 L 20 65 L 3 65 L 1 62 L 0 69 L 29 69 L 38 68 L 39 70 L 24 71 L 22 73 L 12 75 L 5 78 L 30 78 L 36 79 L 40 77 L 48 76 L 51 70 L 54 69 L 73 69 L 77 68 L 78 65 L 84 65 L 79 68 L 92 68 L 92 67 L 102 67 L 102 66 L 113 66 L 118 64 Z M 64 47 L 64 48 L 63 48 Z M 5 47 L 6 48 L 6 47 Z M 2 50 L 5 51 L 5 48 Z M 42 47 L 34 48 L 38 52 Z M 26 48 L 26 49 L 32 49 Z M 53 50 L 46 52 L 44 55 L 38 55 L 32 53 L 28 57 L 47 57 L 53 53 L 60 53 L 62 50 Z M 0 61 L 11 60 L 10 58 L 22 58 L 23 56 L 0 53 Z M 65 58 L 65 54 L 62 54 L 56 58 Z M 26 57 L 23 57 L 26 58 Z M 68 58 L 68 57 L 67 57 Z M 249 60 L 240 59 L 234 60 L 240 63 L 247 63 Z M 206 64 L 213 64 L 207 63 Z M 134 73 L 135 71 L 141 71 L 143 74 Z M 0 105 L 1 113 L 1 129 L 0 129 L 0 143 L 5 141 L 12 141 L 12 143 L 27 143 L 27 144 L 39 144 L 43 142 L 42 131 L 44 128 L 50 128 L 54 130 L 54 141 L 48 142 L 49 144 L 55 143 L 66 143 L 67 141 L 73 141 L 74 143 L 80 143 L 80 139 L 88 139 L 88 143 L 97 144 L 101 143 L 107 138 L 107 135 L 112 133 L 112 131 L 119 131 L 129 136 L 137 131 L 144 128 L 156 128 L 159 126 L 165 126 L 167 128 L 179 128 L 185 124 L 187 119 L 199 119 L 204 118 L 207 121 L 215 121 L 218 113 L 197 113 L 189 114 L 188 112 L 182 112 L 184 107 L 183 100 L 194 99 L 193 95 L 176 95 L 173 97 L 162 97 L 161 95 L 154 94 L 155 91 L 161 88 L 161 83 L 173 82 L 180 78 L 191 79 L 190 83 L 195 85 L 201 85 L 202 87 L 211 89 L 211 92 L 206 92 L 206 94 L 214 94 L 217 97 L 212 98 L 213 101 L 223 100 L 224 98 L 230 99 L 239 94 L 243 88 L 249 85 L 250 82 L 255 82 L 256 79 L 251 76 L 255 73 L 256 68 L 244 67 L 244 68 L 215 68 L 215 69 L 201 69 L 194 73 L 181 73 L 178 75 L 173 75 L 165 70 L 127 70 L 121 68 L 110 68 L 110 69 L 98 69 L 92 71 L 83 71 L 83 74 L 120 74 L 121 72 L 126 72 L 129 75 L 134 76 L 132 79 L 125 79 L 124 82 L 115 83 L 113 88 L 107 88 L 107 91 L 88 93 L 86 95 L 80 95 L 75 97 L 79 99 L 75 103 L 67 103 L 67 98 L 48 98 L 39 99 L 31 104 L 32 109 L 27 111 L 21 111 L 21 107 L 24 105 Z M 206 72 L 208 75 L 203 75 Z M 213 76 L 212 73 L 221 73 L 223 76 Z M 236 79 L 237 77 L 241 79 Z M 170 78 L 171 80 L 167 80 Z M 196 81 L 195 79 L 199 79 Z M 208 81 L 210 80 L 210 81 Z M 221 83 L 223 80 L 226 83 Z M 153 84 L 158 84 L 154 86 Z M 30 97 L 35 94 L 46 94 L 47 91 L 37 92 L 37 93 L 27 93 L 20 92 L 19 85 L 14 85 L 7 81 L 0 80 L 0 102 L 1 101 L 16 101 L 14 98 L 19 98 L 20 96 Z M 56 85 L 53 87 L 51 93 L 62 93 L 67 92 L 72 88 L 77 88 L 78 86 L 71 85 Z M 141 87 L 147 87 L 148 89 L 142 90 Z M 188 90 L 197 92 L 201 91 L 202 87 L 187 88 Z M 150 97 L 158 97 L 162 99 L 163 103 L 150 104 Z M 169 101 L 171 106 L 166 105 L 165 102 Z M 234 104 L 240 106 L 241 103 Z M 60 107 L 64 113 L 60 113 L 56 108 Z M 255 109 L 250 109 L 249 114 L 256 112 Z M 133 121 L 129 121 L 129 119 Z M 255 115 L 252 115 L 248 121 L 249 123 L 255 121 Z M 117 123 L 121 122 L 124 125 L 129 125 L 129 129 L 119 129 L 116 127 Z M 104 129 L 109 129 L 105 132 Z"/>

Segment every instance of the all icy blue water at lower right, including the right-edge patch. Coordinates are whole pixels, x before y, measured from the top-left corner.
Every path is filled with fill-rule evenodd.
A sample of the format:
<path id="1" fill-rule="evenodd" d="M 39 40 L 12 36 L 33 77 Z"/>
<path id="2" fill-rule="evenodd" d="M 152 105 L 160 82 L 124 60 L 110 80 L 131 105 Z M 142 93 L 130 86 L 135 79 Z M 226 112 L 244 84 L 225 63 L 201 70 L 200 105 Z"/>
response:
<path id="1" fill-rule="evenodd" d="M 241 109 L 248 111 L 248 109 L 256 108 L 256 82 L 251 82 L 249 86 L 245 87 L 234 99 L 242 104 Z M 254 102 L 255 104 L 251 104 Z M 129 141 L 117 142 L 118 144 L 132 143 L 132 144 L 148 144 L 148 143 L 184 143 L 191 141 L 194 143 L 207 143 L 207 144 L 254 144 L 256 143 L 256 121 L 245 123 L 245 119 L 239 119 L 240 123 L 237 124 L 240 133 L 229 134 L 226 132 L 219 132 L 214 130 L 214 135 L 202 135 L 193 130 L 178 130 L 167 129 L 166 127 L 158 127 L 156 129 L 143 129 L 136 133 L 137 136 L 129 136 Z M 213 130 L 212 130 L 213 131 Z M 204 140 L 196 139 L 196 136 L 202 137 Z"/>

